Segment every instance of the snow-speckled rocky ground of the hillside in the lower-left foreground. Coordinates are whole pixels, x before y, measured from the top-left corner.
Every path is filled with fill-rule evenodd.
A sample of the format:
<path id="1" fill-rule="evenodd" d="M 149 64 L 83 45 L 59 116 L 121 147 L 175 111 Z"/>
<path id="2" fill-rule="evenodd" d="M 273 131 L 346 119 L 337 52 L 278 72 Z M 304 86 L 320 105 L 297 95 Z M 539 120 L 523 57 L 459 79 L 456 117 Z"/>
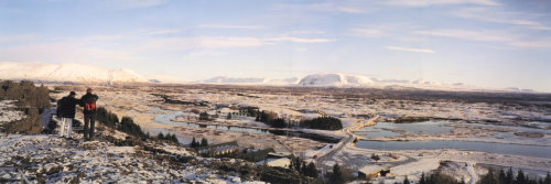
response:
<path id="1" fill-rule="evenodd" d="M 166 149 L 168 151 L 174 148 Z M 177 150 L 176 150 L 177 151 Z M 159 155 L 161 156 L 161 155 Z M 208 162 L 207 160 L 202 162 Z M 171 164 L 140 147 L 77 143 L 56 136 L 0 134 L 0 182 L 241 183 L 202 164 Z"/>

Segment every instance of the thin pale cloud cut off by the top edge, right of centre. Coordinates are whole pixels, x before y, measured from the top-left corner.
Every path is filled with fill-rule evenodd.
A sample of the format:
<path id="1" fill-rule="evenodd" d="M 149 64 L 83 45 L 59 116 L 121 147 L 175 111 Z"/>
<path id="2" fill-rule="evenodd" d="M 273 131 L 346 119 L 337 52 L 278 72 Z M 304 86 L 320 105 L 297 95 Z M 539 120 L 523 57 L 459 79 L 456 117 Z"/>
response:
<path id="1" fill-rule="evenodd" d="M 400 7 L 429 7 L 442 4 L 479 4 L 479 6 L 500 6 L 493 0 L 386 0 L 387 6 Z"/>

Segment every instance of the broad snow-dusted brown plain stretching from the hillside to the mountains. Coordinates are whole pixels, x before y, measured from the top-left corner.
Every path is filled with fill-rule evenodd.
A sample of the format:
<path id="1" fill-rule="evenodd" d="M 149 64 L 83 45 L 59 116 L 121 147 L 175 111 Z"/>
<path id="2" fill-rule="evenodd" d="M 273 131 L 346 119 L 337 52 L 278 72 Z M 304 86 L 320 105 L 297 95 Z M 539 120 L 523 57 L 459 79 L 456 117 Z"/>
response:
<path id="1" fill-rule="evenodd" d="M 62 93 L 55 98 L 69 90 L 76 90 L 77 96 L 84 95 L 82 87 L 57 88 Z M 551 171 L 549 153 L 468 149 L 469 143 L 475 142 L 495 145 L 495 150 L 507 145 L 536 148 L 534 152 L 549 150 L 551 95 L 547 94 L 226 85 L 96 87 L 96 93 L 100 97 L 98 104 L 119 118 L 132 117 L 152 134 L 176 133 L 184 144 L 188 144 L 192 138 L 206 138 L 213 143 L 237 141 L 242 147 L 273 148 L 279 153 L 302 155 L 315 162 L 322 171 L 327 171 L 334 163 L 354 173 L 390 169 L 396 176 L 385 178 L 385 182 L 393 183 L 406 175 L 417 180 L 422 172 L 437 169 L 456 170 L 454 177 L 474 183 L 477 175 L 486 172 L 486 165 L 522 169 L 532 176 Z M 240 111 L 246 107 L 276 112 L 289 125 L 287 128 L 270 128 Z M 201 112 L 208 113 L 208 120 L 199 118 Z M 229 119 L 228 113 L 231 115 Z M 344 129 L 314 130 L 295 126 L 302 120 L 322 116 L 338 118 Z M 439 125 L 421 127 L 429 121 Z M 383 125 L 395 128 L 378 127 Z M 410 128 L 401 129 L 402 125 L 423 129 L 410 131 Z M 431 132 L 439 129 L 444 130 Z M 271 133 L 273 130 L 299 131 L 341 139 L 341 142 Z M 372 136 L 372 132 L 386 131 L 395 134 Z M 365 141 L 463 141 L 467 149 L 398 147 L 385 150 L 365 145 Z M 372 155 L 378 155 L 378 160 Z M 442 161 L 461 166 L 450 169 L 454 164 L 443 166 Z"/>

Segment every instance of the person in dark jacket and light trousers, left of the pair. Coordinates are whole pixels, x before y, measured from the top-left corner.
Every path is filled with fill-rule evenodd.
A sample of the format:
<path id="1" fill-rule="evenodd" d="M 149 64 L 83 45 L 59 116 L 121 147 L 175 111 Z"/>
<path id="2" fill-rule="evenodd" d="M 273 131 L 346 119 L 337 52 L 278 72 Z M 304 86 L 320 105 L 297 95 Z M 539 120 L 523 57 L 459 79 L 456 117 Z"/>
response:
<path id="1" fill-rule="evenodd" d="M 68 96 L 63 97 L 57 102 L 57 116 L 62 118 L 62 125 L 60 126 L 60 137 L 65 137 L 71 139 L 71 132 L 73 131 L 73 119 L 75 118 L 75 107 L 80 100 L 75 98 L 75 91 L 71 91 Z M 66 132 L 65 132 L 66 131 Z"/>

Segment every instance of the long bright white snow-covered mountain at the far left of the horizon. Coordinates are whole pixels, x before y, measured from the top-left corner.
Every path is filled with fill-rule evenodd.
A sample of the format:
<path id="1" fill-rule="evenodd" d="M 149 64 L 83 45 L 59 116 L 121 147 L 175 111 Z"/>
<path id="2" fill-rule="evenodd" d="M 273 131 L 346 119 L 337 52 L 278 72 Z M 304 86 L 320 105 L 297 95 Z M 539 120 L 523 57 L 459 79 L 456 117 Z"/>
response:
<path id="1" fill-rule="evenodd" d="M 0 62 L 0 79 L 32 79 L 77 84 L 149 83 L 129 69 L 105 69 L 77 64 Z"/>

